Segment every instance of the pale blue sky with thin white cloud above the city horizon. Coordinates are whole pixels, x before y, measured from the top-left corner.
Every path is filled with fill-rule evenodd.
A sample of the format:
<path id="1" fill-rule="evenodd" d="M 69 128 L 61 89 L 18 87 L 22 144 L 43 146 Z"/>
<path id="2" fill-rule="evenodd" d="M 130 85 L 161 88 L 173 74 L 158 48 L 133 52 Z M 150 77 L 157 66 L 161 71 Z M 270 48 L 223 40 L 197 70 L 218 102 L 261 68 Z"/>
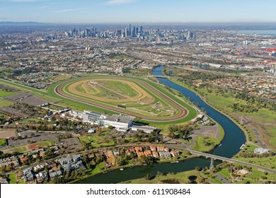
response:
<path id="1" fill-rule="evenodd" d="M 275 0 L 0 0 L 0 21 L 273 23 Z"/>

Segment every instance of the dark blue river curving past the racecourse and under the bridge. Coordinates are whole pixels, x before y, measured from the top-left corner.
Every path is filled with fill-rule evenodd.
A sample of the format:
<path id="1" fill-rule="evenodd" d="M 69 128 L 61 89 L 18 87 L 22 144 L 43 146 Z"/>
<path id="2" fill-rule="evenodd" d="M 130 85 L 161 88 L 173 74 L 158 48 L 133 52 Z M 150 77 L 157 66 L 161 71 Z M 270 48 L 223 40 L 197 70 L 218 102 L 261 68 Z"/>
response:
<path id="1" fill-rule="evenodd" d="M 163 76 L 162 74 L 163 66 L 156 67 L 153 74 L 156 76 Z M 222 146 L 214 148 L 212 153 L 217 156 L 224 156 L 226 158 L 231 158 L 240 150 L 242 144 L 246 142 L 246 136 L 243 134 L 238 126 L 229 120 L 228 117 L 222 115 L 217 110 L 207 105 L 199 96 L 197 96 L 192 91 L 179 86 L 176 83 L 168 80 L 167 78 L 158 78 L 158 80 L 166 86 L 169 86 L 177 91 L 180 91 L 185 95 L 186 98 L 190 97 L 192 102 L 198 103 L 198 107 L 204 108 L 207 111 L 207 115 L 212 117 L 213 120 L 218 122 L 225 132 L 224 139 L 222 139 Z M 113 170 L 108 173 L 101 173 L 91 177 L 87 177 L 84 180 L 79 180 L 76 183 L 79 184 L 103 184 L 103 183 L 117 183 L 126 180 L 133 180 L 140 177 L 144 177 L 146 174 L 156 175 L 157 171 L 161 173 L 178 173 L 187 170 L 195 169 L 195 166 L 209 167 L 210 160 L 205 158 L 190 158 L 185 161 L 180 161 L 179 163 L 159 163 L 152 165 L 142 165 L 136 166 L 134 168 L 125 168 L 125 170 Z M 214 162 L 214 165 L 217 165 Z"/>

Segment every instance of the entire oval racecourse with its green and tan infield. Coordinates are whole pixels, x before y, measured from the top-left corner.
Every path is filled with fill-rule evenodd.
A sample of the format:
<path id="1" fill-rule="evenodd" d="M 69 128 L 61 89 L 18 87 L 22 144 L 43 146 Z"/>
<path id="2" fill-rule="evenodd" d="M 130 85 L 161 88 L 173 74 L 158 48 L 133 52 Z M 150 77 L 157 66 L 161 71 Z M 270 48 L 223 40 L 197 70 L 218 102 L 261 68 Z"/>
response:
<path id="1" fill-rule="evenodd" d="M 194 109 L 187 110 L 185 107 L 190 106 L 163 86 L 142 78 L 91 76 L 65 80 L 56 85 L 54 91 L 62 98 L 142 120 L 173 121 L 187 115 L 190 120 L 196 115 Z"/>

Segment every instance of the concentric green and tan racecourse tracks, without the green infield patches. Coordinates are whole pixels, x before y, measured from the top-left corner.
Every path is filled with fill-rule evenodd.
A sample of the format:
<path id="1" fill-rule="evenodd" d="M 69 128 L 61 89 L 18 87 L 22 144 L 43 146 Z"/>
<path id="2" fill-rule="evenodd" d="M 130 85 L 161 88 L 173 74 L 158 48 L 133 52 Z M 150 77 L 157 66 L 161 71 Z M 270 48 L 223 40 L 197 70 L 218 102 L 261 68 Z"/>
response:
<path id="1" fill-rule="evenodd" d="M 117 81 L 121 83 L 127 84 L 127 86 L 130 86 L 132 88 L 132 91 L 135 91 L 136 93 L 132 92 L 132 97 L 129 95 L 124 95 L 122 92 L 117 93 L 117 95 L 120 95 L 119 98 L 106 98 L 106 97 L 99 97 L 95 96 L 95 94 L 100 93 L 98 90 L 101 85 L 98 87 L 94 87 L 90 89 L 91 93 L 88 94 L 89 91 L 87 89 L 84 89 L 85 91 L 78 91 L 78 86 L 83 86 L 84 84 L 88 83 L 100 83 L 100 81 Z M 83 87 L 84 88 L 84 87 Z M 87 88 L 87 87 L 86 87 Z M 105 90 L 107 89 L 106 86 L 104 86 Z M 116 92 L 116 90 L 110 90 L 113 92 Z M 127 91 L 125 91 L 127 92 Z M 69 79 L 65 81 L 61 81 L 54 87 L 54 93 L 56 93 L 59 96 L 62 96 L 62 98 L 67 98 L 69 100 L 73 100 L 76 102 L 93 105 L 95 107 L 98 107 L 103 110 L 110 110 L 112 112 L 117 112 L 123 115 L 131 115 L 134 117 L 137 117 L 142 120 L 147 121 L 154 121 L 154 122 L 168 122 L 168 121 L 176 121 L 176 120 L 183 120 L 183 118 L 187 117 L 189 115 L 189 111 L 185 108 L 188 105 L 181 100 L 180 98 L 177 98 L 175 95 L 169 93 L 166 91 L 163 86 L 153 83 L 141 78 L 129 78 L 129 77 L 118 77 L 118 76 L 91 76 L 91 77 L 85 77 L 85 78 L 74 78 Z M 169 107 L 172 107 L 175 112 L 173 115 L 164 115 L 164 116 L 154 116 L 150 113 L 141 113 L 139 111 L 135 111 L 132 108 L 120 108 L 117 107 L 115 104 L 120 103 L 132 103 L 133 101 L 137 102 L 140 100 L 143 100 L 145 98 L 151 98 L 154 100 L 161 101 L 164 105 L 168 105 Z M 152 102 L 152 101 L 151 101 Z M 156 101 L 155 101 L 156 102 Z M 190 107 L 190 106 L 188 106 Z M 190 107 L 190 110 L 192 110 L 192 115 L 189 117 L 192 119 L 195 117 L 196 112 L 194 109 Z"/>

